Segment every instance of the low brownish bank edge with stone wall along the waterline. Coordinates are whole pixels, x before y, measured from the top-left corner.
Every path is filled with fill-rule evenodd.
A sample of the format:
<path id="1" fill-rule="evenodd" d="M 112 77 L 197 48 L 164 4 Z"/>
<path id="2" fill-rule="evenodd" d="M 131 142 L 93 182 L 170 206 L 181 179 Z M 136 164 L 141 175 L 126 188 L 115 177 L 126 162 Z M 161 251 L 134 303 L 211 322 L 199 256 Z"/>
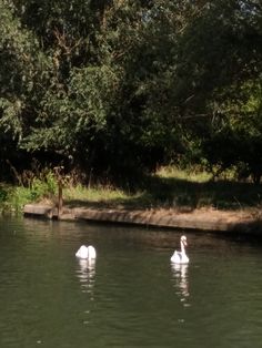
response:
<path id="1" fill-rule="evenodd" d="M 44 217 L 60 221 L 87 221 L 97 223 L 132 224 L 145 227 L 181 228 L 224 233 L 261 234 L 262 218 L 252 211 L 202 209 L 121 209 L 84 206 L 63 206 L 49 204 L 27 204 L 24 216 Z"/>

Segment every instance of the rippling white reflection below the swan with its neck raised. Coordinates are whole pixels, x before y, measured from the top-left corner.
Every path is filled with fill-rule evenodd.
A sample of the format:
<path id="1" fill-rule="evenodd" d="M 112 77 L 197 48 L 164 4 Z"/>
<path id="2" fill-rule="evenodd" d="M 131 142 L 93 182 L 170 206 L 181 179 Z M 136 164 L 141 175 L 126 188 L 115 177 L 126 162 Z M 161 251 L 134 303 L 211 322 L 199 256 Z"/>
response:
<path id="1" fill-rule="evenodd" d="M 173 264 L 171 263 L 173 277 L 175 280 L 177 294 L 181 296 L 181 301 L 189 299 L 189 276 L 188 276 L 188 264 Z"/>

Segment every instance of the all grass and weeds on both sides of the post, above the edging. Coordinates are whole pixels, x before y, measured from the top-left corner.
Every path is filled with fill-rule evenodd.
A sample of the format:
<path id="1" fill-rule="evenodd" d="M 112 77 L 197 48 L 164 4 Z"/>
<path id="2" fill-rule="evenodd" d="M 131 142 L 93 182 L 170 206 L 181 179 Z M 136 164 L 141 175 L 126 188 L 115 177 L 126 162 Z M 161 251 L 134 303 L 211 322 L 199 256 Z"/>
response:
<path id="1" fill-rule="evenodd" d="M 54 174 L 33 177 L 28 185 L 0 185 L 2 212 L 20 213 L 24 204 L 49 202 L 56 204 L 58 184 Z M 178 208 L 256 209 L 262 206 L 262 185 L 240 183 L 224 177 L 211 181 L 203 172 L 162 168 L 141 180 L 137 190 L 121 190 L 110 185 L 83 185 L 67 181 L 64 204 L 112 208 Z"/>

